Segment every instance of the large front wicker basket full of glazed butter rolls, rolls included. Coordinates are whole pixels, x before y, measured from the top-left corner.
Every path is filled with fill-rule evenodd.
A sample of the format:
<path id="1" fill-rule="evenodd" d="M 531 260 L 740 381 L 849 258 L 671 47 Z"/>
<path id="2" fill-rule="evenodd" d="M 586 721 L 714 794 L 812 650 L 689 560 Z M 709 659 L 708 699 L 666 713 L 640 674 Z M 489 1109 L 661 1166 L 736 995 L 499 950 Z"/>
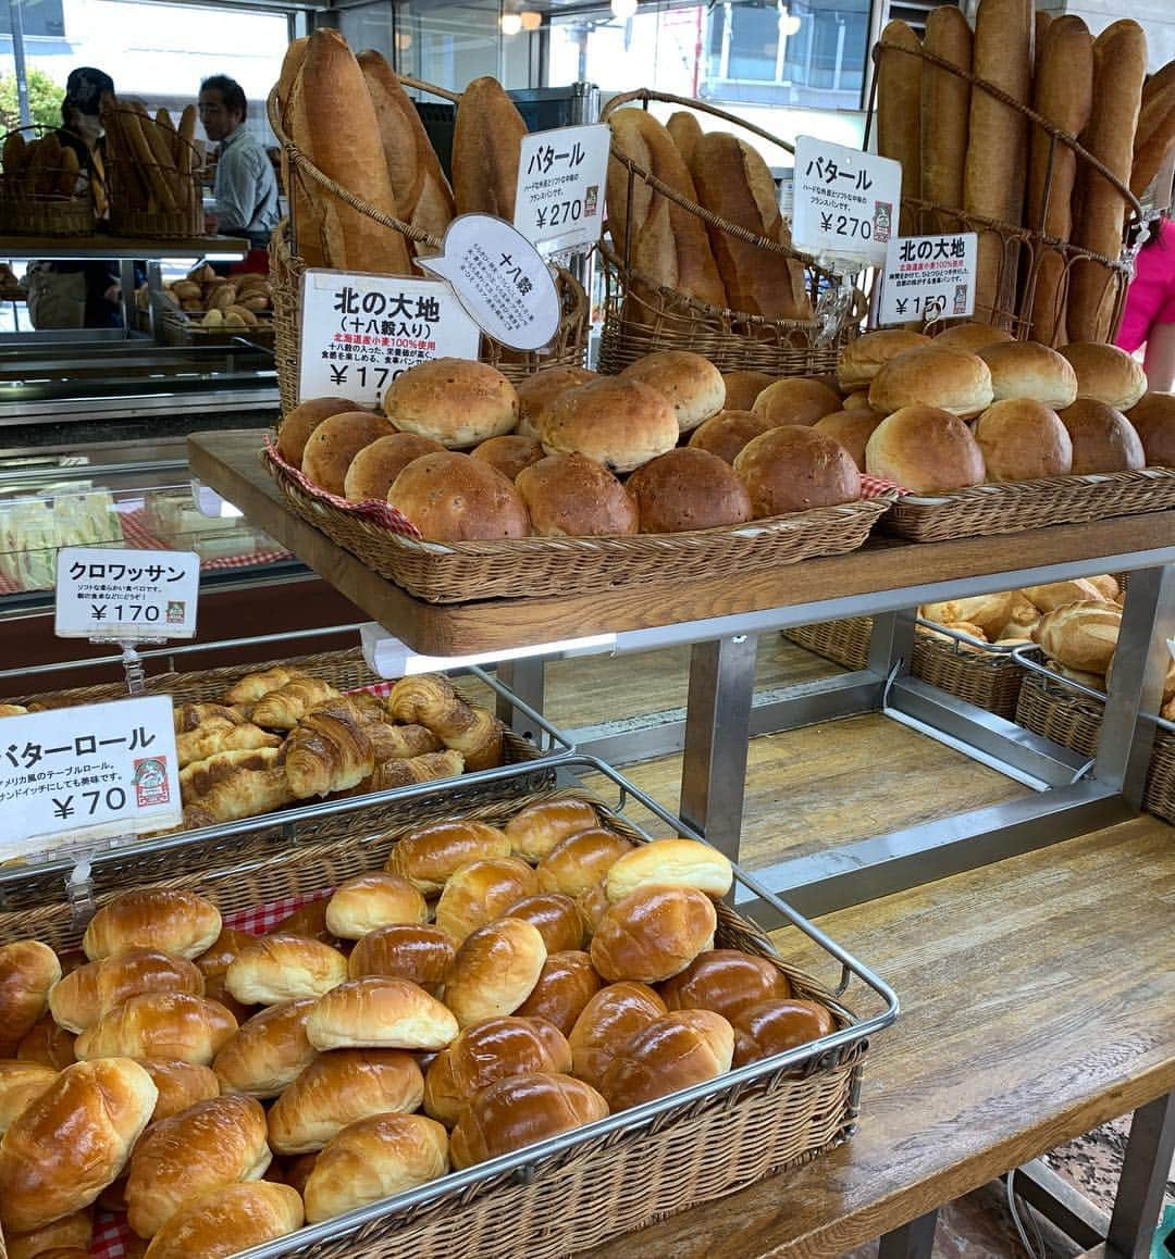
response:
<path id="1" fill-rule="evenodd" d="M 545 1259 L 807 1161 L 851 1132 L 861 1020 L 730 885 L 562 792 L 102 896 L 84 934 L 0 914 L 10 1259 Z"/>

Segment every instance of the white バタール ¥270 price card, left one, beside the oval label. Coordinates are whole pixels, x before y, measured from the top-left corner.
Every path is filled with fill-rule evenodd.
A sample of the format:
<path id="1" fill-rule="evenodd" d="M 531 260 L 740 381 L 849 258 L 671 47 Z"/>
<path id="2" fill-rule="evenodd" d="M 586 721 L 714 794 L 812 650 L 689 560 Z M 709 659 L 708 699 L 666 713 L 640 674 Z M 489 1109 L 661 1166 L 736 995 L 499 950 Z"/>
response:
<path id="1" fill-rule="evenodd" d="M 611 142 L 607 123 L 523 136 L 514 225 L 531 244 L 560 253 L 599 239 Z"/>

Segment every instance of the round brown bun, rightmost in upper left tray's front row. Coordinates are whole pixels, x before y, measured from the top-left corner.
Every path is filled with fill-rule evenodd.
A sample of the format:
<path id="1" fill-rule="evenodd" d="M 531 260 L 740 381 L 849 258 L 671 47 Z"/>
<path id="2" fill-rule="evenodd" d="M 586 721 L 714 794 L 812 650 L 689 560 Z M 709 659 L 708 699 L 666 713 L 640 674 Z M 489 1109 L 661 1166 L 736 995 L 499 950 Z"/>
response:
<path id="1" fill-rule="evenodd" d="M 772 428 L 743 447 L 734 461 L 757 520 L 788 511 L 831 507 L 861 496 L 853 456 L 814 428 Z"/>

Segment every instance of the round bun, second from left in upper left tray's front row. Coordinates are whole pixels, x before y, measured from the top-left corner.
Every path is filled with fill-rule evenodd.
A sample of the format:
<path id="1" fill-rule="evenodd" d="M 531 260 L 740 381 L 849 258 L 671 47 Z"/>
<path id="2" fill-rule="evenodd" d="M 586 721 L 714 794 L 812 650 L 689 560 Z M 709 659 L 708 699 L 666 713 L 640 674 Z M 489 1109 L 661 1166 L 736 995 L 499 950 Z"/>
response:
<path id="1" fill-rule="evenodd" d="M 625 487 L 586 454 L 547 454 L 514 482 L 539 538 L 608 538 L 635 534 L 636 506 Z"/>

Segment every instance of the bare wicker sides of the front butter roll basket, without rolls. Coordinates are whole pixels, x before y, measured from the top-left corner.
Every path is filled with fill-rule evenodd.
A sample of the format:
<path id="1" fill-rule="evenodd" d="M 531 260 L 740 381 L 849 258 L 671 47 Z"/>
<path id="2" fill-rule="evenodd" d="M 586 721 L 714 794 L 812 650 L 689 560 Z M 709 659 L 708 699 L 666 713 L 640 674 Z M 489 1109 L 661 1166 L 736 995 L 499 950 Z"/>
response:
<path id="1" fill-rule="evenodd" d="M 555 793 L 584 798 L 583 792 Z M 465 816 L 501 825 L 538 798 L 497 802 Z M 598 802 L 593 798 L 593 803 Z M 434 815 L 436 816 L 436 815 Z M 633 842 L 642 836 L 601 807 L 603 825 Z M 166 879 L 161 886 L 198 889 L 222 913 L 298 898 L 379 869 L 404 828 L 354 836 Z M 139 880 L 135 880 L 139 884 Z M 107 896 L 99 896 L 101 905 Z M 68 904 L 0 914 L 0 943 L 35 937 L 55 948 L 76 947 L 79 930 Z M 718 905 L 715 944 L 767 958 L 787 974 L 797 995 L 815 997 L 840 1029 L 859 1020 L 809 976 L 782 963 L 766 937 L 725 905 Z M 612 1240 L 618 1230 L 713 1201 L 783 1167 L 810 1161 L 845 1141 L 858 1114 L 866 1053 L 864 1039 L 821 1050 L 791 1068 L 767 1068 L 751 1080 L 709 1097 L 669 1105 L 651 1119 L 582 1139 L 531 1160 L 525 1177 L 490 1175 L 466 1187 L 436 1183 L 431 1201 L 397 1206 L 395 1199 L 319 1226 L 307 1240 L 293 1234 L 266 1248 L 267 1255 L 300 1259 L 392 1259 L 406 1254 L 446 1259 L 554 1259 Z M 374 1217 L 372 1217 L 374 1216 Z M 364 1222 L 366 1220 L 366 1222 Z"/>

